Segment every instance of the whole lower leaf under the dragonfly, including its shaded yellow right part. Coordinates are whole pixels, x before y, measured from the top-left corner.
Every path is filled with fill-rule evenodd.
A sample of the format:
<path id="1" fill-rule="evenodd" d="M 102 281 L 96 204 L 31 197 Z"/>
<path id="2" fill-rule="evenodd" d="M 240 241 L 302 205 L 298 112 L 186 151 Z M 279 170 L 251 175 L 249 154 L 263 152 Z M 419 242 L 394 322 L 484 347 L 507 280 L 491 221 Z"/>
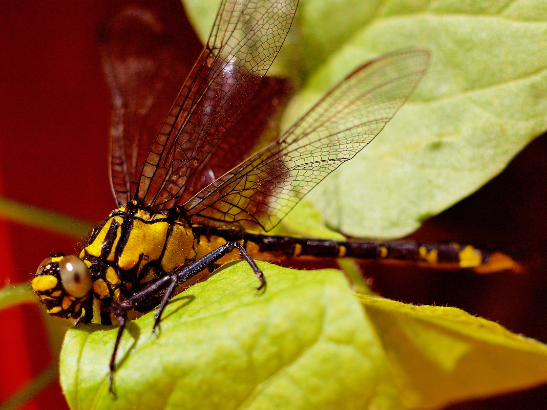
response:
<path id="1" fill-rule="evenodd" d="M 115 326 L 67 332 L 72 408 L 437 408 L 547 380 L 542 343 L 454 308 L 356 298 L 335 270 L 222 268 L 129 323 L 108 393 Z M 359 299 L 361 303 L 359 303 Z"/>

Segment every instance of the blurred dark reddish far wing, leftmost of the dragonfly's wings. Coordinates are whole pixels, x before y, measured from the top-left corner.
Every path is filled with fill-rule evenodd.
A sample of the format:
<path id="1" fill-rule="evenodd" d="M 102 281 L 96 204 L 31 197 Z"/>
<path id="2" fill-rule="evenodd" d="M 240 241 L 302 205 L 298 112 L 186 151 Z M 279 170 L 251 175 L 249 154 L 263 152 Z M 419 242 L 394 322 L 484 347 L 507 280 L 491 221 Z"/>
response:
<path id="1" fill-rule="evenodd" d="M 197 38 L 179 28 L 182 8 L 156 8 L 127 7 L 98 36 L 112 93 L 109 170 L 118 204 L 130 201 L 137 189 L 150 145 L 190 71 L 185 55 L 200 49 Z"/>

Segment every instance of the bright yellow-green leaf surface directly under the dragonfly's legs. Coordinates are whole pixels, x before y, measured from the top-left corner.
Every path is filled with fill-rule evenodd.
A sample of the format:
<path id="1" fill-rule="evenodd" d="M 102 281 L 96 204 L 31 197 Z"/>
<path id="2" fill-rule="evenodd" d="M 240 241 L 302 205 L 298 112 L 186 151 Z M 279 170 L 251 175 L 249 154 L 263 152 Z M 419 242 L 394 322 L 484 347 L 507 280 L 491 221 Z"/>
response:
<path id="1" fill-rule="evenodd" d="M 115 326 L 67 332 L 61 384 L 72 408 L 398 408 L 385 358 L 362 307 L 336 270 L 245 262 L 222 268 L 153 313 L 130 321 L 108 393 Z M 222 403 L 222 405 L 220 405 Z M 388 406 L 389 405 L 389 406 Z M 395 407 L 393 407 L 395 406 Z"/>

